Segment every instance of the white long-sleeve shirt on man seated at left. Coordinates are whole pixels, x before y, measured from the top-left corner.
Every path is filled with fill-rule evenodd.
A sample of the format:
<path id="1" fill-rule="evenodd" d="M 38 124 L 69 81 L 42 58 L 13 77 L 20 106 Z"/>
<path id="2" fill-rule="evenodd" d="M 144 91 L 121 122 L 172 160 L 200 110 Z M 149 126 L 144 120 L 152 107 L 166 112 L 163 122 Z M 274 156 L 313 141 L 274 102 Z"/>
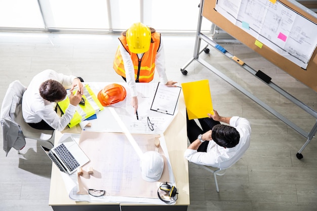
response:
<path id="1" fill-rule="evenodd" d="M 76 106 L 69 104 L 63 116 L 59 116 L 52 102 L 49 102 L 39 95 L 38 88 L 48 79 L 56 80 L 64 87 L 71 86 L 75 76 L 68 76 L 57 73 L 54 70 L 44 70 L 33 77 L 22 98 L 22 114 L 25 122 L 37 123 L 46 121 L 52 128 L 62 131 L 70 122 L 76 111 Z"/>

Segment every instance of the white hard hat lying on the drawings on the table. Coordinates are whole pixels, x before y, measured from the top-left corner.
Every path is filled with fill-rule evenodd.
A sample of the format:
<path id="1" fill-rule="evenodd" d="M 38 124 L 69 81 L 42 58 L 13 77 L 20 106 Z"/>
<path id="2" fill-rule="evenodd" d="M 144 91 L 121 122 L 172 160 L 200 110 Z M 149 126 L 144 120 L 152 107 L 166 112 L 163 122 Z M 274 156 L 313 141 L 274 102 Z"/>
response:
<path id="1" fill-rule="evenodd" d="M 164 159 L 159 152 L 145 152 L 141 158 L 140 165 L 143 180 L 147 182 L 160 180 L 164 169 Z"/>

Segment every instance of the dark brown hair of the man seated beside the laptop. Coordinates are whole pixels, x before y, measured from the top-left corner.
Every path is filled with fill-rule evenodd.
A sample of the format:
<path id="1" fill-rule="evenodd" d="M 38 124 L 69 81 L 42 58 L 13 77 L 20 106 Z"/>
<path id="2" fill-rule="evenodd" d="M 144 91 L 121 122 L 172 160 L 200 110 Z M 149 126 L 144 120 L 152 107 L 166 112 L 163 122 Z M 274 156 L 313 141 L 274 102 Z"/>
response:
<path id="1" fill-rule="evenodd" d="M 50 102 L 62 100 L 67 95 L 63 85 L 60 82 L 52 79 L 44 81 L 41 86 L 39 86 L 38 91 L 42 98 Z"/>

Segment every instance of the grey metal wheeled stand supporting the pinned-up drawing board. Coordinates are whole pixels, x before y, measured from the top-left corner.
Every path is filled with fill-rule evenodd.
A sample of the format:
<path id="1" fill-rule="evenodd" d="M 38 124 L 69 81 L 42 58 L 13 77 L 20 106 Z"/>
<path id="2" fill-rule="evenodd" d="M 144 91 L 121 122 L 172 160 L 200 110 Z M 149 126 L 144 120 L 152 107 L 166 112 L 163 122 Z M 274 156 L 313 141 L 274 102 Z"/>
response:
<path id="1" fill-rule="evenodd" d="M 301 147 L 301 149 L 298 151 L 298 153 L 296 154 L 296 157 L 298 159 L 303 158 L 303 155 L 301 154 L 302 151 L 304 150 L 304 148 L 309 144 L 309 142 L 311 141 L 311 139 L 315 136 L 316 132 L 317 132 L 317 112 L 315 110 L 313 110 L 312 108 L 310 108 L 309 106 L 307 106 L 306 104 L 302 103 L 301 101 L 299 101 L 298 99 L 296 99 L 294 96 L 290 95 L 289 93 L 287 93 L 286 91 L 284 91 L 282 88 L 280 88 L 279 86 L 275 85 L 272 81 L 270 81 L 269 83 L 264 82 L 261 78 L 257 77 L 256 74 L 256 70 L 254 70 L 252 67 L 250 67 L 249 65 L 247 65 L 246 63 L 244 65 L 242 65 L 242 67 L 247 70 L 248 72 L 250 72 L 251 74 L 253 74 L 255 77 L 257 77 L 259 80 L 263 81 L 267 86 L 271 87 L 272 89 L 274 89 L 276 92 L 280 93 L 281 95 L 283 95 L 284 97 L 286 97 L 288 100 L 290 100 L 291 102 L 293 102 L 294 104 L 296 104 L 297 106 L 299 106 L 300 108 L 302 108 L 304 111 L 306 111 L 307 113 L 309 113 L 310 115 L 312 115 L 314 118 L 316 118 L 316 122 L 313 125 L 312 129 L 310 130 L 309 133 L 307 133 L 306 131 L 304 131 L 303 129 L 301 129 L 298 125 L 296 125 L 294 122 L 292 122 L 291 120 L 289 120 L 288 118 L 286 118 L 285 116 L 283 116 L 281 113 L 279 113 L 278 111 L 274 110 L 273 108 L 271 108 L 270 106 L 268 106 L 266 103 L 264 103 L 263 101 L 261 101 L 260 99 L 258 99 L 257 97 L 255 97 L 252 93 L 250 93 L 249 91 L 245 90 L 243 87 L 241 87 L 240 85 L 238 85 L 235 81 L 231 80 L 229 77 L 227 77 L 225 74 L 223 74 L 222 72 L 220 72 L 219 70 L 217 70 L 215 67 L 213 67 L 211 64 L 209 64 L 208 62 L 206 62 L 205 60 L 201 59 L 199 57 L 199 55 L 204 51 L 205 53 L 209 53 L 209 49 L 208 46 L 212 46 L 214 48 L 216 48 L 217 43 L 210 39 L 209 37 L 207 37 L 205 34 L 203 34 L 201 32 L 201 27 L 202 27 L 202 21 L 203 21 L 203 8 L 204 8 L 204 0 L 201 0 L 201 4 L 200 4 L 200 10 L 199 10 L 199 18 L 198 18 L 198 24 L 197 24 L 197 31 L 196 31 L 196 39 L 195 39 L 195 46 L 194 46 L 194 53 L 193 53 L 193 57 L 180 69 L 180 71 L 182 72 L 183 75 L 187 74 L 187 70 L 186 67 L 189 66 L 189 64 L 193 61 L 197 61 L 199 63 L 201 63 L 202 65 L 204 65 L 206 68 L 208 68 L 210 71 L 212 71 L 213 73 L 215 73 L 216 75 L 218 75 L 219 77 L 221 77 L 222 79 L 224 79 L 226 82 L 228 82 L 231 86 L 233 86 L 234 88 L 236 88 L 237 90 L 239 90 L 240 92 L 242 92 L 243 94 L 245 94 L 247 97 L 249 97 L 251 100 L 253 100 L 254 102 L 256 102 L 257 104 L 259 104 L 260 106 L 262 106 L 264 109 L 266 109 L 268 112 L 270 112 L 271 114 L 273 114 L 274 116 L 278 117 L 279 119 L 281 119 L 282 121 L 284 121 L 287 125 L 289 125 L 291 128 L 293 128 L 295 131 L 297 131 L 299 134 L 301 134 L 302 136 L 304 136 L 305 138 L 307 138 L 305 144 Z M 201 48 L 201 40 L 204 40 L 208 45 L 206 47 L 203 48 L 203 50 L 200 51 Z M 217 48 L 216 48 L 217 49 Z M 221 51 L 220 51 L 221 52 Z M 223 53 L 223 52 L 221 52 Z M 228 57 L 228 59 L 230 59 L 232 62 L 236 63 L 234 60 L 232 60 L 231 58 L 233 57 L 232 54 L 230 54 L 229 52 L 223 53 L 225 56 Z M 236 63 L 237 64 L 237 63 Z M 239 65 L 239 64 L 237 64 Z M 239 65 L 240 66 L 240 65 Z"/>

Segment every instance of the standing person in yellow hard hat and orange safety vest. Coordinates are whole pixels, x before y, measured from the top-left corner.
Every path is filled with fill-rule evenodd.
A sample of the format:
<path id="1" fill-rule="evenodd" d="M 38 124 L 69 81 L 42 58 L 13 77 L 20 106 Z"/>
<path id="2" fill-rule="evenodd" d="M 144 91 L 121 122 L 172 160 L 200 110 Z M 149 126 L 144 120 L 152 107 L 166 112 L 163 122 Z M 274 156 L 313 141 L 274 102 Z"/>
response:
<path id="1" fill-rule="evenodd" d="M 136 82 L 150 82 L 155 68 L 159 72 L 161 83 L 176 87 L 175 81 L 166 76 L 164 47 L 161 33 L 143 23 L 134 23 L 118 38 L 120 44 L 115 53 L 113 69 L 123 77 L 131 90 L 131 105 L 134 113 L 138 109 Z"/>

